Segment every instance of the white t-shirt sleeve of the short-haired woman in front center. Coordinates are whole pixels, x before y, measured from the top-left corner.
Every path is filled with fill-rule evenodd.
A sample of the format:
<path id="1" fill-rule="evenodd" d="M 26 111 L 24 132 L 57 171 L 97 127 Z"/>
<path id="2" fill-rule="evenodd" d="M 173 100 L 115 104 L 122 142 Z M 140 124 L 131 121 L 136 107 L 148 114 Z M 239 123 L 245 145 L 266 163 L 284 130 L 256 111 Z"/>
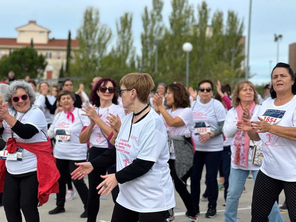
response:
<path id="1" fill-rule="evenodd" d="M 141 135 L 140 143 L 142 144 L 142 148 L 140 148 L 137 158 L 156 163 L 160 154 L 163 152 L 167 138 L 163 133 L 156 129 L 151 131 L 148 127 L 147 130 L 149 132 Z"/>

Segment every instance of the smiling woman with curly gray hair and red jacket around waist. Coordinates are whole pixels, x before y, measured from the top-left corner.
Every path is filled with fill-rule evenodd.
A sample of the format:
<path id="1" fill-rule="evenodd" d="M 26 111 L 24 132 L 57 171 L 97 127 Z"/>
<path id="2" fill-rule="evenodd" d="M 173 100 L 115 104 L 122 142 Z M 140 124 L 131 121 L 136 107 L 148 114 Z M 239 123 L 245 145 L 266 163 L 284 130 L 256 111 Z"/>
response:
<path id="1" fill-rule="evenodd" d="M 58 192 L 59 173 L 47 140 L 44 113 L 34 106 L 35 93 L 24 81 L 11 83 L 0 105 L 0 192 L 7 221 L 39 221 L 37 206 Z M 5 179 L 4 179 L 5 178 Z"/>

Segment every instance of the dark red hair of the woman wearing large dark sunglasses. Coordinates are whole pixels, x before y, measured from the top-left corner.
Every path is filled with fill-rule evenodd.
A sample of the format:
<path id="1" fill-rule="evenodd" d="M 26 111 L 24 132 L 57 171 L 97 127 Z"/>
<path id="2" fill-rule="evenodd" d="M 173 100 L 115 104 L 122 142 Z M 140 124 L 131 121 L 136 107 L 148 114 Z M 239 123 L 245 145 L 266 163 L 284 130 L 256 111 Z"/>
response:
<path id="1" fill-rule="evenodd" d="M 96 91 L 99 90 L 100 86 L 106 86 L 108 81 L 110 81 L 113 84 L 113 87 L 115 87 L 115 92 L 114 92 L 114 96 L 112 99 L 112 103 L 114 103 L 115 105 L 118 105 L 117 99 L 118 99 L 118 95 L 117 95 L 117 83 L 114 79 L 110 79 L 110 78 L 103 78 L 100 79 L 97 83 L 96 86 L 94 87 L 94 89 L 91 91 L 91 94 L 89 96 L 89 101 L 91 102 L 91 104 L 96 105 L 96 107 L 100 107 L 100 97 L 98 96 L 98 94 L 96 93 Z M 103 84 L 102 84 L 103 83 Z"/>

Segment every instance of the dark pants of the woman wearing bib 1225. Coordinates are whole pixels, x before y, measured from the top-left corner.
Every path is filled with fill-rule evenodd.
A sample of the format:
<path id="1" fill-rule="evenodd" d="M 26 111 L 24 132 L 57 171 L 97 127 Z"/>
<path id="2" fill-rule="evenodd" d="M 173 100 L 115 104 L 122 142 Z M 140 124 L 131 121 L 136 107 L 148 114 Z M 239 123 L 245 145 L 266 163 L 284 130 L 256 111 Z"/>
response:
<path id="1" fill-rule="evenodd" d="M 222 158 L 222 151 L 203 152 L 196 151 L 193 159 L 191 175 L 191 196 L 195 209 L 199 211 L 200 203 L 200 179 L 202 178 L 202 169 L 206 167 L 207 196 L 208 207 L 215 208 L 218 199 L 217 174 Z"/>

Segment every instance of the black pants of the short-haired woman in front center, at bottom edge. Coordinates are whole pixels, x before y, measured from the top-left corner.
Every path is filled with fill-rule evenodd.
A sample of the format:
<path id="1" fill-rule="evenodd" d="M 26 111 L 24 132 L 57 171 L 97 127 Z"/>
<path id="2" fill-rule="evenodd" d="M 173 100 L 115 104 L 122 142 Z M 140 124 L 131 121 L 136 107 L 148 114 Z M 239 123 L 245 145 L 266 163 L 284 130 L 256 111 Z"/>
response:
<path id="1" fill-rule="evenodd" d="M 166 212 L 165 210 L 152 213 L 139 213 L 129 210 L 115 202 L 111 222 L 163 222 L 165 221 Z"/>

